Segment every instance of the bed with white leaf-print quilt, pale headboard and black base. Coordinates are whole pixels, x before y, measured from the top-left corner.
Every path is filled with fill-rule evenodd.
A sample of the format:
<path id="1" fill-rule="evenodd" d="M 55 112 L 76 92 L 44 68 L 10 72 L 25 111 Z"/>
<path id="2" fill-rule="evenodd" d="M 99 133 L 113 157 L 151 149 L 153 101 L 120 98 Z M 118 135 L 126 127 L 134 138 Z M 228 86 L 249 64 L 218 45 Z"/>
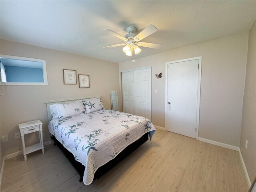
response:
<path id="1" fill-rule="evenodd" d="M 46 102 L 50 120 L 48 128 L 51 138 L 80 175 L 80 181 L 89 185 L 146 142 L 148 137 L 151 140 L 156 129 L 144 117 L 104 107 L 88 114 L 52 118 L 50 105 L 76 100 Z"/>

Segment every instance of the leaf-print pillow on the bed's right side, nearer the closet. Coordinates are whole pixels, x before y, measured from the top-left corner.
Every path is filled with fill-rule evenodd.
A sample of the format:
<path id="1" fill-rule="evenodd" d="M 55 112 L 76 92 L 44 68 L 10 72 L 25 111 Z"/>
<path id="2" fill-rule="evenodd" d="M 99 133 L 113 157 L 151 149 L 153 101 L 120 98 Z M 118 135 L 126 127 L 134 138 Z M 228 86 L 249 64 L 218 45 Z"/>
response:
<path id="1" fill-rule="evenodd" d="M 100 97 L 82 100 L 86 113 L 92 113 L 104 109 Z"/>

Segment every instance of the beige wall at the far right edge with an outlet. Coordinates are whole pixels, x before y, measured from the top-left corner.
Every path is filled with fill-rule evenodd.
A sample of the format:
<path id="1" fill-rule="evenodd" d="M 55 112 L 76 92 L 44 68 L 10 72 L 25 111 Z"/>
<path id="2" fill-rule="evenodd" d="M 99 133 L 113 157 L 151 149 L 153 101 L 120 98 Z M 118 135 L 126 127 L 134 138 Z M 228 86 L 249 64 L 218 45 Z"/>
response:
<path id="1" fill-rule="evenodd" d="M 256 176 L 256 20 L 249 31 L 240 150 L 252 182 Z"/>

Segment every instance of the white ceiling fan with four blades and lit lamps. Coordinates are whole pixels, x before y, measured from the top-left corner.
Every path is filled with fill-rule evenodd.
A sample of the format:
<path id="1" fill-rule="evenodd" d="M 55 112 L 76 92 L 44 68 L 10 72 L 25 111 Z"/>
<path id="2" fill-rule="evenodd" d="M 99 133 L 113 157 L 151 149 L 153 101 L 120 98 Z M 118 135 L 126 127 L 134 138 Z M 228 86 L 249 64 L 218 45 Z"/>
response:
<path id="1" fill-rule="evenodd" d="M 124 46 L 123 52 L 128 56 L 132 56 L 133 57 L 132 62 L 135 62 L 134 55 L 139 54 L 141 52 L 141 49 L 138 46 L 154 48 L 154 49 L 159 49 L 161 46 L 160 44 L 140 42 L 142 39 L 144 39 L 145 37 L 151 35 L 152 33 L 156 32 L 158 30 L 154 25 L 148 26 L 146 29 L 144 29 L 142 32 L 140 32 L 137 35 L 134 34 L 134 32 L 136 32 L 135 26 L 128 26 L 126 28 L 126 30 L 127 30 L 128 34 L 126 34 L 125 36 L 122 36 L 110 29 L 104 29 L 103 31 L 105 31 L 117 38 L 124 40 L 124 43 L 106 46 L 104 48 L 113 48 L 113 47 L 118 47 L 118 46 Z"/>

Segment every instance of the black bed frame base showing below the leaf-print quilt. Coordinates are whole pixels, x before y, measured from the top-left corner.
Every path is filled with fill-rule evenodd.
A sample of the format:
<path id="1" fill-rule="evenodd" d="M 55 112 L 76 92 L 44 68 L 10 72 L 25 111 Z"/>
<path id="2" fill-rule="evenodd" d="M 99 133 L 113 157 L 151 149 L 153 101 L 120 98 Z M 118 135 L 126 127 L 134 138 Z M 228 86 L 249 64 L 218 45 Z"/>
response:
<path id="1" fill-rule="evenodd" d="M 58 148 L 63 152 L 66 156 L 68 161 L 72 164 L 75 168 L 76 172 L 80 175 L 79 182 L 82 182 L 84 176 L 84 169 L 85 167 L 76 159 L 74 155 L 70 153 L 64 146 L 52 135 L 51 139 L 54 140 L 54 145 L 57 145 Z M 134 152 L 137 148 L 139 148 L 144 142 L 148 140 L 148 133 L 145 133 L 141 138 L 133 142 L 132 144 L 128 145 L 122 152 L 120 152 L 114 159 L 110 160 L 108 163 L 104 164 L 103 166 L 99 167 L 98 170 L 94 173 L 94 179 L 96 180 L 116 166 L 119 162 L 121 162 L 124 158 Z"/>

